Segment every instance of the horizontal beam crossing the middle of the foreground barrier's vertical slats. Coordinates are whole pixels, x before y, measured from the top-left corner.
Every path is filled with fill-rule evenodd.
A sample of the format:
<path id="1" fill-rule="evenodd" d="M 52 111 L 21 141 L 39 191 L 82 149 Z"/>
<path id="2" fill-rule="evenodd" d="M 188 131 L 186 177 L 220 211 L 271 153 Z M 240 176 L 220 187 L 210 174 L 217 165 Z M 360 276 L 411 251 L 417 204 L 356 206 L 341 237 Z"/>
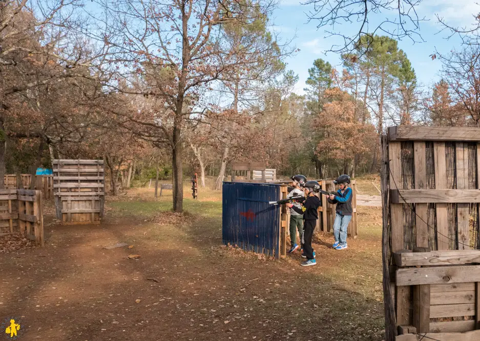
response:
<path id="1" fill-rule="evenodd" d="M 479 190 L 391 190 L 393 203 L 460 203 L 480 202 Z M 468 206 L 468 204 L 467 204 Z M 467 207 L 468 208 L 468 207 Z"/>

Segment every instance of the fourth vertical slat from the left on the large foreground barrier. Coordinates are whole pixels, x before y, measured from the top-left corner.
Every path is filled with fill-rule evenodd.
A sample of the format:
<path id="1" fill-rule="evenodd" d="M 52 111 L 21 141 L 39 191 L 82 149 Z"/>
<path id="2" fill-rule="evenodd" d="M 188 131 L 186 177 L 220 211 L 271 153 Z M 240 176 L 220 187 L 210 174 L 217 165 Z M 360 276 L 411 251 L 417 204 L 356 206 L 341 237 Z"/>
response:
<path id="1" fill-rule="evenodd" d="M 456 146 L 456 188 L 468 189 L 468 146 L 464 143 L 457 143 Z M 473 190 L 480 193 L 478 190 Z M 474 201 L 469 201 L 474 202 Z M 470 205 L 468 203 L 457 204 L 457 237 L 458 249 L 469 249 L 470 243 Z"/>

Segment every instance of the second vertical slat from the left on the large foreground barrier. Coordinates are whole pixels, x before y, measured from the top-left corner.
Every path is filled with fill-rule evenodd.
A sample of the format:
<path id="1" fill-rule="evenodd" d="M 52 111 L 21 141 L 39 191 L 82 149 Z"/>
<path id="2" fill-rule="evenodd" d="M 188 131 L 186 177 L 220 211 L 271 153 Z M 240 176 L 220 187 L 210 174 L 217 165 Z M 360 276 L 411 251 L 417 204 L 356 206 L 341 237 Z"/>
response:
<path id="1" fill-rule="evenodd" d="M 425 142 L 413 143 L 414 159 L 414 187 L 415 190 L 425 190 L 427 187 L 427 160 Z M 416 225 L 416 246 L 428 247 L 428 215 L 427 204 L 419 203 L 415 205 L 415 225 Z M 418 330 L 421 330 L 418 328 Z M 422 332 L 428 332 L 423 330 Z"/>

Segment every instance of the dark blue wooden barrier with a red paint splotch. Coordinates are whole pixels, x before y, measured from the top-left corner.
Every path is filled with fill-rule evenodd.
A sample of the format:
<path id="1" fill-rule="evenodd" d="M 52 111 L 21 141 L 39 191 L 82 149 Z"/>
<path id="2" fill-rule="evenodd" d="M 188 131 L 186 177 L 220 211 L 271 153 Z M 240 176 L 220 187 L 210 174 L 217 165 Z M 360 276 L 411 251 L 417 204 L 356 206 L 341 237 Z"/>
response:
<path id="1" fill-rule="evenodd" d="M 280 185 L 223 183 L 222 240 L 248 251 L 279 258 Z"/>

